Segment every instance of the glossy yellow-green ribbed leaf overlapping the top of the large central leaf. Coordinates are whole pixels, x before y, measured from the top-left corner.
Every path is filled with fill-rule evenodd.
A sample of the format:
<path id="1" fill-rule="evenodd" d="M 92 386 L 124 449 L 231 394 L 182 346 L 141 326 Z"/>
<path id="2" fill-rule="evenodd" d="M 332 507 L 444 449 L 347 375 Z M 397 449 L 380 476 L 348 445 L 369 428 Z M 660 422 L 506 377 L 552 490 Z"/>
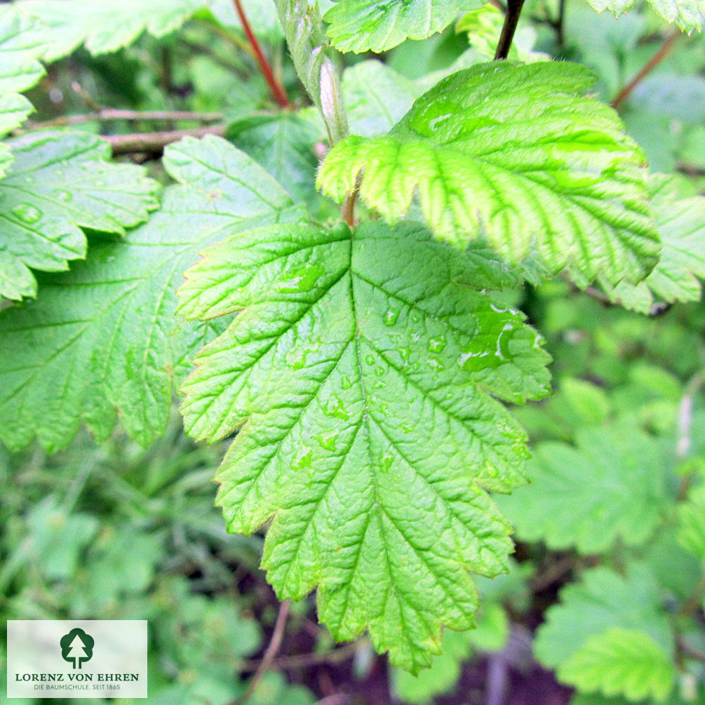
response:
<path id="1" fill-rule="evenodd" d="M 577 64 L 482 63 L 442 80 L 386 137 L 348 137 L 321 166 L 338 202 L 360 196 L 386 221 L 418 190 L 441 240 L 485 235 L 517 262 L 537 252 L 591 281 L 639 281 L 656 263 L 644 157 L 615 112 L 583 97 Z"/>

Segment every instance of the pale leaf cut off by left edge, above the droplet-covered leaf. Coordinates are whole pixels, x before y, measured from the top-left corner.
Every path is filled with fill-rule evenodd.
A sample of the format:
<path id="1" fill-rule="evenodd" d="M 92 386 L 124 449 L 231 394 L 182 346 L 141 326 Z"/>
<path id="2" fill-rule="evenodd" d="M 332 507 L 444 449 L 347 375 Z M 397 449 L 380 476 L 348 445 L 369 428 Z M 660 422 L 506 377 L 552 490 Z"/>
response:
<path id="1" fill-rule="evenodd" d="M 31 88 L 44 75 L 37 59 L 45 48 L 44 35 L 34 20 L 18 13 L 13 5 L 0 7 L 0 137 L 32 112 L 32 104 L 19 92 Z M 8 147 L 0 145 L 0 176 L 11 162 Z"/>

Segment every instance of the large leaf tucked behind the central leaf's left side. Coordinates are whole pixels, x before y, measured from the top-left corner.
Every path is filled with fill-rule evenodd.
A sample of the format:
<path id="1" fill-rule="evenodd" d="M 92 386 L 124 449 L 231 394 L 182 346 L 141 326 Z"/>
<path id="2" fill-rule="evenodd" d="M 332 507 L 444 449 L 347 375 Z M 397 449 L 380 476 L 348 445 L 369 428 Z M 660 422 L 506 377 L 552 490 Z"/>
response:
<path id="1" fill-rule="evenodd" d="M 164 431 L 172 379 L 212 326 L 174 316 L 181 272 L 204 245 L 272 223 L 288 195 L 225 140 L 183 140 L 164 164 L 182 185 L 125 240 L 92 245 L 69 274 L 44 276 L 34 302 L 0 312 L 0 439 L 37 436 L 57 450 L 84 421 L 98 439 L 115 424 L 146 444 Z"/>

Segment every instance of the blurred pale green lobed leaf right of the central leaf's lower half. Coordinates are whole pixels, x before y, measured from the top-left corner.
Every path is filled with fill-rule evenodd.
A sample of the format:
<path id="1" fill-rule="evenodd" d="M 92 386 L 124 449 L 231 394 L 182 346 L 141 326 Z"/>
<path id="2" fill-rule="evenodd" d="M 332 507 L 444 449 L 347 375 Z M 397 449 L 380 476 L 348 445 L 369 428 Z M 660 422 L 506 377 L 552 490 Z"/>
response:
<path id="1" fill-rule="evenodd" d="M 585 427 L 575 446 L 541 443 L 529 463 L 530 494 L 499 498 L 524 541 L 605 553 L 648 539 L 672 500 L 656 442 L 636 427 Z M 532 501 L 532 496 L 541 501 Z"/>

